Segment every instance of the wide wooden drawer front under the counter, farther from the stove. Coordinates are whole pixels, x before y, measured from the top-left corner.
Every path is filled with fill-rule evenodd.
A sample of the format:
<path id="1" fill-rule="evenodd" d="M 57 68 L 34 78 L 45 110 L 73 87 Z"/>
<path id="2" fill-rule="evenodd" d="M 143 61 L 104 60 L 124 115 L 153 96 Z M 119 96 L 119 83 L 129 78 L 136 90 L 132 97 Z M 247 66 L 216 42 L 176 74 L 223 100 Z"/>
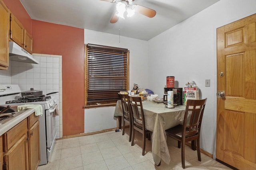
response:
<path id="1" fill-rule="evenodd" d="M 12 129 L 4 133 L 4 152 L 12 147 L 24 134 L 27 134 L 27 119 L 24 119 Z"/>

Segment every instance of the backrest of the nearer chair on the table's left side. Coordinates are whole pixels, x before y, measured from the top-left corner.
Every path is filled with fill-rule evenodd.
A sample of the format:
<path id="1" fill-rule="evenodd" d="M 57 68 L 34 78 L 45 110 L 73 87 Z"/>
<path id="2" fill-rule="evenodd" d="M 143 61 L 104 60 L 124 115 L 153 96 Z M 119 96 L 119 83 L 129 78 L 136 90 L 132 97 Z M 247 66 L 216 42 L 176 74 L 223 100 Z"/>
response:
<path id="1" fill-rule="evenodd" d="M 129 104 L 131 109 L 133 125 L 140 127 L 141 129 L 144 130 L 145 118 L 144 118 L 144 111 L 143 111 L 141 97 L 129 96 Z"/>

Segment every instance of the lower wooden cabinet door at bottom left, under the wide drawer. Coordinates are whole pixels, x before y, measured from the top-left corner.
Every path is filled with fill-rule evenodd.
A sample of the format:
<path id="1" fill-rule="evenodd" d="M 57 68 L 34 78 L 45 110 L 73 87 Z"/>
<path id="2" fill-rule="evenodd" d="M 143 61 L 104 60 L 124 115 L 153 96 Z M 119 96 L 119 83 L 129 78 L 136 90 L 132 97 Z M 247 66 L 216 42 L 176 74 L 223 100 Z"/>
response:
<path id="1" fill-rule="evenodd" d="M 8 170 L 28 170 L 28 140 L 23 135 L 4 155 L 4 167 Z"/>

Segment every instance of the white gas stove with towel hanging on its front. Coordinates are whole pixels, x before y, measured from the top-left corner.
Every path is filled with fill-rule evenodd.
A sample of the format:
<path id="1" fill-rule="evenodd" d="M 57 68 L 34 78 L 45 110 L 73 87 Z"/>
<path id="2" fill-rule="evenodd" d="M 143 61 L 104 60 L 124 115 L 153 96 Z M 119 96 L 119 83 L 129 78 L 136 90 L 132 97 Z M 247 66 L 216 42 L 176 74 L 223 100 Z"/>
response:
<path id="1" fill-rule="evenodd" d="M 25 104 L 40 104 L 43 108 L 43 115 L 39 117 L 40 122 L 40 156 L 39 165 L 47 164 L 54 147 L 56 139 L 55 112 L 58 109 L 56 100 L 47 96 L 36 100 L 24 99 L 18 84 L 2 84 L 6 88 L 0 91 L 1 106 L 20 106 Z"/>

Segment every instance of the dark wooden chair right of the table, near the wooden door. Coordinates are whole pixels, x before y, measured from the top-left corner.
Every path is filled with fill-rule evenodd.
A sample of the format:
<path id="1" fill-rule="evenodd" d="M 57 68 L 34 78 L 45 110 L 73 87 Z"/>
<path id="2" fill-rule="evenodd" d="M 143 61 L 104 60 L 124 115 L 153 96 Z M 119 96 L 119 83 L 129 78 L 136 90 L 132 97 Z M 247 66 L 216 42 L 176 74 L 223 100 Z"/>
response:
<path id="1" fill-rule="evenodd" d="M 200 130 L 206 100 L 207 98 L 203 100 L 188 100 L 183 124 L 165 131 L 166 135 L 178 140 L 178 148 L 180 148 L 181 143 L 181 161 L 183 169 L 185 169 L 185 143 L 188 141 L 196 141 L 197 157 L 198 160 L 201 161 Z"/>

